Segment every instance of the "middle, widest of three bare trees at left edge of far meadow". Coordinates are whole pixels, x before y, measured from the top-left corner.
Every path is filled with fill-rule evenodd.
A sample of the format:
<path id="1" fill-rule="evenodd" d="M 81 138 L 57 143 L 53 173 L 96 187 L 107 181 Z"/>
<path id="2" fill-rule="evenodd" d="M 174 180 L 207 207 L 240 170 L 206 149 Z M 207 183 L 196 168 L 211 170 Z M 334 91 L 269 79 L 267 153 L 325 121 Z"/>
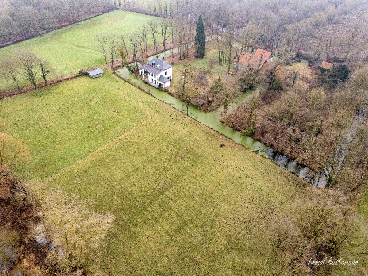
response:
<path id="1" fill-rule="evenodd" d="M 30 51 L 20 52 L 18 54 L 18 66 L 21 69 L 20 75 L 29 81 L 35 88 L 36 85 L 36 77 L 38 73 L 37 68 L 38 57 L 36 54 Z"/>

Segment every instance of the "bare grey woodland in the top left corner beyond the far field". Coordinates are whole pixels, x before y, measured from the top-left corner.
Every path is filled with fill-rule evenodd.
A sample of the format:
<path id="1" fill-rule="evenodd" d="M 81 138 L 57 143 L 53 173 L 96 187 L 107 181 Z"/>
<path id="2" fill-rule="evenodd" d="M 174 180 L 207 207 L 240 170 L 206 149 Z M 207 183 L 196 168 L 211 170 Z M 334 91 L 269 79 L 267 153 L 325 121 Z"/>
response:
<path id="1" fill-rule="evenodd" d="M 109 0 L 2 0 L 0 45 L 114 9 Z"/>

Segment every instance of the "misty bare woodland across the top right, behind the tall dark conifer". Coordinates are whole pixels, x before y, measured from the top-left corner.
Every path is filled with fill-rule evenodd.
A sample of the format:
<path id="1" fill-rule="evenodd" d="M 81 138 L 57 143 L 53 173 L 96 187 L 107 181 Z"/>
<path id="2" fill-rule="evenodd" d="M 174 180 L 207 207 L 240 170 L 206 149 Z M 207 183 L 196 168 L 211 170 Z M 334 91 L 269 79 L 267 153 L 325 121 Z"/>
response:
<path id="1" fill-rule="evenodd" d="M 201 15 L 206 35 L 226 36 L 226 41 L 219 43 L 219 63 L 233 60 L 233 56 L 241 52 L 242 47 L 236 49 L 235 44 L 237 40 L 246 42 L 245 38 L 239 39 L 244 29 L 256 32 L 257 37 L 250 41 L 251 46 L 271 52 L 285 47 L 301 59 L 312 60 L 321 55 L 321 59 L 347 62 L 350 66 L 367 57 L 367 31 L 358 24 L 351 25 L 336 36 L 326 29 L 329 26 L 339 28 L 334 24 L 341 23 L 351 11 L 364 10 L 367 3 L 361 0 L 329 0 L 322 3 L 315 0 L 288 3 L 281 0 L 256 3 L 242 0 L 231 3 L 230 7 L 227 7 L 226 1 L 155 0 L 144 6 L 135 3 L 127 5 L 132 5 L 134 9 L 132 6 L 128 9 L 137 12 L 184 21 L 190 25 L 197 23 Z M 162 8 L 161 12 L 157 8 L 160 5 L 167 6 L 168 13 L 166 8 Z"/>

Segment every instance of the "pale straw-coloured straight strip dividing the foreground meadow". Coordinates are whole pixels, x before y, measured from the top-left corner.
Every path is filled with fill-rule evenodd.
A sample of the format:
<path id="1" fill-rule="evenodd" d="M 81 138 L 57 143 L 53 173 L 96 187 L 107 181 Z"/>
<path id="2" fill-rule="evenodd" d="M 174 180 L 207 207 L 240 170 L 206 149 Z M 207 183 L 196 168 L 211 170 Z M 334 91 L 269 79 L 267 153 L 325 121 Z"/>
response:
<path id="1" fill-rule="evenodd" d="M 137 126 L 135 126 L 134 128 L 128 130 L 127 132 L 124 132 L 123 134 L 121 134 L 120 136 L 116 137 L 115 139 L 113 139 L 112 141 L 110 141 L 109 143 L 103 145 L 102 147 L 96 149 L 95 151 L 89 153 L 87 156 L 85 156 L 84 158 L 82 158 L 81 160 L 65 167 L 64 169 L 61 169 L 59 172 L 57 172 L 56 174 L 54 174 L 51 177 L 45 178 L 45 180 L 43 181 L 44 184 L 49 184 L 52 180 L 56 179 L 57 177 L 59 177 L 61 174 L 63 174 L 64 172 L 68 171 L 69 169 L 71 169 L 72 167 L 77 166 L 79 163 L 84 162 L 85 160 L 88 160 L 90 158 L 92 158 L 94 155 L 105 151 L 106 149 L 112 148 L 114 145 L 116 145 L 118 142 L 120 142 L 120 140 L 122 140 L 123 138 L 127 137 L 129 134 L 131 134 L 132 132 L 134 132 L 135 130 L 141 128 L 142 126 L 149 124 L 151 121 L 154 121 L 158 118 L 162 117 L 159 114 L 155 114 L 152 117 L 148 118 L 147 120 L 145 120 L 144 122 L 138 124 Z"/>

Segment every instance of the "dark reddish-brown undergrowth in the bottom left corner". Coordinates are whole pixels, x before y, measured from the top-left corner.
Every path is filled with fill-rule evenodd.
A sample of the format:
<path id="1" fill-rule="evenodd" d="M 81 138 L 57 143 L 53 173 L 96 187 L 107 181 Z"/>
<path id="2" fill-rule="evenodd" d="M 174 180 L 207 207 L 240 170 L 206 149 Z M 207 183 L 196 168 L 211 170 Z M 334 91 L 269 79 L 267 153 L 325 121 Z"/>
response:
<path id="1" fill-rule="evenodd" d="M 42 275 L 46 245 L 35 240 L 32 227 L 41 223 L 27 194 L 18 190 L 14 177 L 0 171 L 0 271 L 2 275 Z"/>

